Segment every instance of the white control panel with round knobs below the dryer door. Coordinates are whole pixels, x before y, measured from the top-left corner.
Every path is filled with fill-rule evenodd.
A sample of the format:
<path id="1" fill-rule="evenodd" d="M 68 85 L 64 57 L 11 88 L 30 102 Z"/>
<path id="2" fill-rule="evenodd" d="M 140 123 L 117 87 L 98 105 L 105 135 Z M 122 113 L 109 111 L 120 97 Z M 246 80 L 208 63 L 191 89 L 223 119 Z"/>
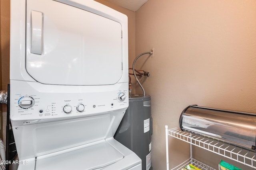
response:
<path id="1" fill-rule="evenodd" d="M 12 80 L 10 85 L 10 118 L 23 124 L 99 115 L 127 108 L 129 104 L 127 83 L 88 87 Z"/>

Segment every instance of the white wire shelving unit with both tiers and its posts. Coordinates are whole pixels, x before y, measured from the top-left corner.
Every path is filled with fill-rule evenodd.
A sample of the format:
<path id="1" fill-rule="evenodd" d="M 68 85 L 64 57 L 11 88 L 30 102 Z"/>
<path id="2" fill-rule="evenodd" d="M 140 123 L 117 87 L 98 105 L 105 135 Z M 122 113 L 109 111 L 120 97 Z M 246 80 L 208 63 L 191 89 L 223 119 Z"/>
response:
<path id="1" fill-rule="evenodd" d="M 168 136 L 172 136 L 181 141 L 190 143 L 190 159 L 186 160 L 180 166 L 173 168 L 172 170 L 180 170 L 182 167 L 191 163 L 195 166 L 198 166 L 201 170 L 214 170 L 213 168 L 203 164 L 192 158 L 192 145 L 200 147 L 204 150 L 208 150 L 215 154 L 224 156 L 241 164 L 247 165 L 249 167 L 256 169 L 256 153 L 249 150 L 241 149 L 233 145 L 222 143 L 207 137 L 202 137 L 185 131 L 181 131 L 179 127 L 168 129 L 168 126 L 165 126 L 166 129 L 166 168 L 169 170 L 169 158 L 168 158 Z M 193 162 L 194 161 L 194 162 Z"/>

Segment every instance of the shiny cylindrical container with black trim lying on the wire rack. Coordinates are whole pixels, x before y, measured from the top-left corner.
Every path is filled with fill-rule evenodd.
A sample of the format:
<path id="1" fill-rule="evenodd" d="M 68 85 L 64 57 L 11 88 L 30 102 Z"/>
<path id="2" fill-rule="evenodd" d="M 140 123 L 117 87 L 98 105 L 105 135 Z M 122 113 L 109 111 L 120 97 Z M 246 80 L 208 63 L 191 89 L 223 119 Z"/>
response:
<path id="1" fill-rule="evenodd" d="M 255 152 L 256 114 L 188 106 L 180 115 L 180 129 Z"/>

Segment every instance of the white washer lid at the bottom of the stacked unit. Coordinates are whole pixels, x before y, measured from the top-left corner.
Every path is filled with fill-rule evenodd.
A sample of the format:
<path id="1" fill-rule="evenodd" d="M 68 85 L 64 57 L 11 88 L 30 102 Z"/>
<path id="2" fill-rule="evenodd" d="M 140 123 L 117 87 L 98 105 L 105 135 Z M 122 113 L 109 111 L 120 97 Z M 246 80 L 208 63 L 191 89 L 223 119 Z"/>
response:
<path id="1" fill-rule="evenodd" d="M 56 156 L 36 158 L 35 170 L 94 170 L 113 164 L 124 156 L 106 141 Z"/>

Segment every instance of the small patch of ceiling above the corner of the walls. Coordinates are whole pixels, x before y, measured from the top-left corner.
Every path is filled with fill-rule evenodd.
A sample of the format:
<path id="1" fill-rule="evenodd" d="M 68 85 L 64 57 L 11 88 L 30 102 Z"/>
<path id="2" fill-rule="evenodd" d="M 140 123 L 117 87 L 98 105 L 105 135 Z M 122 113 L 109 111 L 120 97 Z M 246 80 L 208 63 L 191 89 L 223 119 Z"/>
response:
<path id="1" fill-rule="evenodd" d="M 137 11 L 148 0 L 106 0 L 131 11 Z"/>

